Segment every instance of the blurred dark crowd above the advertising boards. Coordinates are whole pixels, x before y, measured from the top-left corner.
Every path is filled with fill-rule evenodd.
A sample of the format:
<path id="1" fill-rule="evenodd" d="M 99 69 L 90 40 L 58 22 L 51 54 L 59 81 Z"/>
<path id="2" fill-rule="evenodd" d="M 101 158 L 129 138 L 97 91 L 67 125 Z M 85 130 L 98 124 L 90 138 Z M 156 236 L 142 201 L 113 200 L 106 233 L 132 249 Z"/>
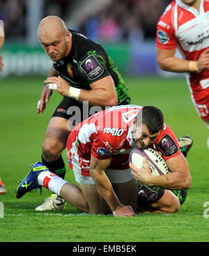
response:
<path id="1" fill-rule="evenodd" d="M 30 42 L 31 26 L 46 15 L 58 15 L 68 28 L 95 41 L 155 38 L 156 22 L 170 0 L 0 0 L 6 38 Z M 31 22 L 31 20 L 33 22 Z M 35 23 L 34 23 L 35 22 Z M 36 29 L 32 29 L 35 33 Z M 31 39 L 31 41 L 33 41 Z"/>

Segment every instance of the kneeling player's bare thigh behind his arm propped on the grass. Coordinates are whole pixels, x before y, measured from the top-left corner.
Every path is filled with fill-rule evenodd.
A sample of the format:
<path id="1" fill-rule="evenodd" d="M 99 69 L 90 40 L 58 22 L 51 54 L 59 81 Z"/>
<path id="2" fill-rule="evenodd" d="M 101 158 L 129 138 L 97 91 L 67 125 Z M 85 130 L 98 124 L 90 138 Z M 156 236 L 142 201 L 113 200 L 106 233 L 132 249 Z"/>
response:
<path id="1" fill-rule="evenodd" d="M 86 198 L 89 213 L 111 213 L 111 209 L 107 205 L 106 201 L 104 201 L 102 195 L 98 192 L 96 185 L 86 185 L 79 183 L 79 188 L 82 190 L 84 197 Z"/>

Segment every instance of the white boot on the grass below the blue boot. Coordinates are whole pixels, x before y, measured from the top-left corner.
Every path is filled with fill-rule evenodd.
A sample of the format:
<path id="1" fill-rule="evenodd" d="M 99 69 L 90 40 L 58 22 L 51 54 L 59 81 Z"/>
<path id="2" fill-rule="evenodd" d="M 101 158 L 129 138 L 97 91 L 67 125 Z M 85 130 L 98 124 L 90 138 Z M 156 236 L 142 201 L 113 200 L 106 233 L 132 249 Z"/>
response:
<path id="1" fill-rule="evenodd" d="M 51 197 L 47 197 L 45 201 L 36 207 L 36 211 L 53 211 L 62 210 L 65 208 L 65 199 L 59 197 L 56 194 L 52 194 Z"/>

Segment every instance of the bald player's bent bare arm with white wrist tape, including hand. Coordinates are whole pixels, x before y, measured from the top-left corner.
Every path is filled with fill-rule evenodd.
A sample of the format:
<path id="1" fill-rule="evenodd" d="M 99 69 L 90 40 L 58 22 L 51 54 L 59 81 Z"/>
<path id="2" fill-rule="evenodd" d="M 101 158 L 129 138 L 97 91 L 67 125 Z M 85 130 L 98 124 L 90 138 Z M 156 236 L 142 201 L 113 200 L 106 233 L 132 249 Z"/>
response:
<path id="1" fill-rule="evenodd" d="M 56 83 L 56 91 L 65 97 L 70 97 L 70 85 L 60 76 L 47 78 L 45 83 Z M 111 76 L 106 76 L 92 83 L 91 89 L 80 90 L 76 99 L 81 102 L 88 101 L 89 105 L 92 106 L 115 106 L 118 104 L 116 88 Z"/>

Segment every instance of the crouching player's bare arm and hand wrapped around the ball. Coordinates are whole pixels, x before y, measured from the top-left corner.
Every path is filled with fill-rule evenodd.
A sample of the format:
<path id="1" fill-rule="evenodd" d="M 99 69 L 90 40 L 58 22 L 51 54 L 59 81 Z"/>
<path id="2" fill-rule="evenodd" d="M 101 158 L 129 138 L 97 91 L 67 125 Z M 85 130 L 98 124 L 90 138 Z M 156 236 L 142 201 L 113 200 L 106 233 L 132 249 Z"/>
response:
<path id="1" fill-rule="evenodd" d="M 150 185 L 163 187 L 167 190 L 183 190 L 191 187 L 192 178 L 189 174 L 189 166 L 183 155 L 172 157 L 166 161 L 169 171 L 167 175 L 153 176 L 148 167 L 146 157 L 144 157 L 144 167 L 138 169 L 130 163 L 132 174 L 139 182 Z"/>

